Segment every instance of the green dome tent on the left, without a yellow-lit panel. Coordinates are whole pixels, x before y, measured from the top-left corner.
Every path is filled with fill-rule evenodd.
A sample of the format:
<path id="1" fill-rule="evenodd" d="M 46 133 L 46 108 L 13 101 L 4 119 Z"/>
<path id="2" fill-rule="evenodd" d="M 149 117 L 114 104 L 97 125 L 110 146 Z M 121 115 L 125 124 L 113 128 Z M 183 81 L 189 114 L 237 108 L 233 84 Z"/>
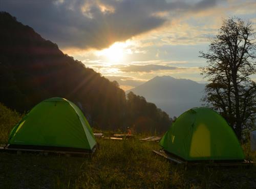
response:
<path id="1" fill-rule="evenodd" d="M 63 98 L 37 104 L 9 135 L 9 148 L 91 151 L 96 140 L 81 110 Z"/>

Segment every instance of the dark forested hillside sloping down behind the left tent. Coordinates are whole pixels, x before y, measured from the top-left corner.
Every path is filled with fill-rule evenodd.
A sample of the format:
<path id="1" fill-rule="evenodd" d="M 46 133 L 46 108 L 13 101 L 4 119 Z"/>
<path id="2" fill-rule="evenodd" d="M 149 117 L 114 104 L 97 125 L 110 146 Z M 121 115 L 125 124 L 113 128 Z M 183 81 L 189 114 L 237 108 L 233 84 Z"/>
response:
<path id="1" fill-rule="evenodd" d="M 165 112 L 152 106 L 152 113 L 137 112 L 152 103 L 134 96 L 140 107 L 129 106 L 125 93 L 80 61 L 63 54 L 57 44 L 42 38 L 7 12 L 0 12 L 0 102 L 18 112 L 51 97 L 81 105 L 92 126 L 125 129 L 145 123 L 144 131 L 165 131 L 170 125 Z M 145 120 L 139 124 L 138 120 Z M 137 124 L 138 123 L 138 124 Z M 160 124 L 159 124 L 160 123 Z"/>

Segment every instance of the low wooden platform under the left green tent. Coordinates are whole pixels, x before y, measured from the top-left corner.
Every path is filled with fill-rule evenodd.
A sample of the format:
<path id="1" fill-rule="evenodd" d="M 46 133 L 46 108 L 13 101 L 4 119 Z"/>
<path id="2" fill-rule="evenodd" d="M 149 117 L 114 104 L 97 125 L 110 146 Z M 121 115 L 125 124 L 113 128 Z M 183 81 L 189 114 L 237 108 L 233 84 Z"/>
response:
<path id="1" fill-rule="evenodd" d="M 17 153 L 22 154 L 23 152 L 30 152 L 30 153 L 39 153 L 39 154 L 60 154 L 66 156 L 92 156 L 97 146 L 95 146 L 91 152 L 76 152 L 76 151 L 56 151 L 56 150 L 40 150 L 40 149 L 22 149 L 22 148 L 8 148 L 9 145 L 0 145 L 0 152 L 9 152 L 9 153 Z"/>

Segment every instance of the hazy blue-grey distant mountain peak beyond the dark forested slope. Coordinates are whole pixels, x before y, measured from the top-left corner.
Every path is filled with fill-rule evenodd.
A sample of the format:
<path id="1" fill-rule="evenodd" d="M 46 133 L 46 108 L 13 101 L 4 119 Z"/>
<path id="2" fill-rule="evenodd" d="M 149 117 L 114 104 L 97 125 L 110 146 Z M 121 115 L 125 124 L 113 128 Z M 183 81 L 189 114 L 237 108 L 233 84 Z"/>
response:
<path id="1" fill-rule="evenodd" d="M 204 84 L 188 79 L 157 76 L 129 91 L 155 103 L 170 116 L 179 116 L 192 107 L 201 106 L 204 87 Z"/>

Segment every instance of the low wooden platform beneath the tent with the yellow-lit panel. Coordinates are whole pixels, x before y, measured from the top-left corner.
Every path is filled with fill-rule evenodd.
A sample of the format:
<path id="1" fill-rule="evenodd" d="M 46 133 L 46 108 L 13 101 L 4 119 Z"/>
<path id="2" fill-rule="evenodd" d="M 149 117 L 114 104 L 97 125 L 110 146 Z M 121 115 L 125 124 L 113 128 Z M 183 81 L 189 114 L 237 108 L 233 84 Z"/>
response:
<path id="1" fill-rule="evenodd" d="M 244 160 L 241 162 L 220 162 L 220 161 L 185 161 L 179 159 L 172 154 L 166 153 L 164 150 L 153 150 L 153 152 L 157 155 L 164 157 L 165 159 L 169 160 L 170 162 L 174 162 L 177 164 L 185 164 L 187 166 L 229 166 L 229 167 L 236 167 L 236 166 L 252 166 L 253 164 L 256 165 L 256 162 Z"/>

